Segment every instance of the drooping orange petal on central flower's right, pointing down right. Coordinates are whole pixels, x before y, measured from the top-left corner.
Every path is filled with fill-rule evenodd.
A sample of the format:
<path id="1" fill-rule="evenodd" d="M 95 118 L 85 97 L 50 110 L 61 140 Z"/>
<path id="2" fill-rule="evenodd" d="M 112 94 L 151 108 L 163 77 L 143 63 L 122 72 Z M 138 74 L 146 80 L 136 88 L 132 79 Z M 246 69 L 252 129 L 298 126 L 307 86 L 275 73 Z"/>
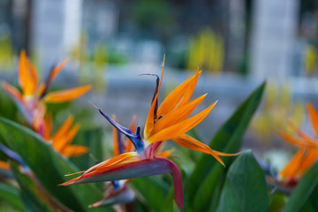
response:
<path id="1" fill-rule="evenodd" d="M 222 159 L 216 154 L 216 151 L 209 148 L 208 145 L 201 143 L 199 140 L 195 140 L 193 137 L 186 134 L 179 135 L 178 137 L 173 138 L 173 140 L 184 148 L 191 148 L 194 151 L 212 155 L 219 163 L 225 166 Z"/>

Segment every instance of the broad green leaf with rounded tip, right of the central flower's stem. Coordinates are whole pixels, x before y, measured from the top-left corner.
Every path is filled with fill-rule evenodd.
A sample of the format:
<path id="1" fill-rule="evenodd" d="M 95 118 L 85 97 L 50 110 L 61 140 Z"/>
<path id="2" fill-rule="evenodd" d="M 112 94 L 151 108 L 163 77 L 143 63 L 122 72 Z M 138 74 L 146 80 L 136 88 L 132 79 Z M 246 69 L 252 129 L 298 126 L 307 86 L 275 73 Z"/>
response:
<path id="1" fill-rule="evenodd" d="M 217 212 L 265 212 L 269 193 L 263 170 L 251 151 L 246 151 L 231 164 L 223 186 Z"/>

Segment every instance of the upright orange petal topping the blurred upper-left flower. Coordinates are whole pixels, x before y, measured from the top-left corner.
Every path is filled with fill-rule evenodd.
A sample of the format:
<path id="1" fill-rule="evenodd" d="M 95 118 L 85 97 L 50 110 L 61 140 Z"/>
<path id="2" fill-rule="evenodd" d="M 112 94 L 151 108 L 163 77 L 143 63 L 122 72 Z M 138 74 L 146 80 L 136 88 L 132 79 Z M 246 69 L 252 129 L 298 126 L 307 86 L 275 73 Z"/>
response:
<path id="1" fill-rule="evenodd" d="M 37 78 L 33 79 L 36 72 L 31 70 L 27 61 L 27 54 L 25 50 L 21 50 L 19 57 L 19 86 L 23 91 L 23 95 L 33 95 L 36 88 Z"/>

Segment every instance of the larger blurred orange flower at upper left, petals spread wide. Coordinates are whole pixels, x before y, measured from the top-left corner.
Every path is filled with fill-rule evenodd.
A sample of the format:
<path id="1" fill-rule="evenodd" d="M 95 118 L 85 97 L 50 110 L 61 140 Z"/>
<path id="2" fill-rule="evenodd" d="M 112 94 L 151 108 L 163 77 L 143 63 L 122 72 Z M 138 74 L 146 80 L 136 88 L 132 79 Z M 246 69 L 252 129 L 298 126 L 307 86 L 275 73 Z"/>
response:
<path id="1" fill-rule="evenodd" d="M 38 74 L 34 64 L 27 59 L 26 51 L 22 50 L 19 56 L 18 68 L 18 82 L 21 92 L 6 82 L 2 83 L 2 87 L 16 102 L 28 124 L 40 134 L 43 133 L 44 127 L 45 103 L 71 101 L 81 95 L 85 95 L 91 88 L 90 85 L 87 85 L 48 93 L 49 85 L 56 79 L 57 74 L 61 72 L 65 64 L 67 64 L 67 60 L 53 68 L 45 82 L 39 85 Z"/>

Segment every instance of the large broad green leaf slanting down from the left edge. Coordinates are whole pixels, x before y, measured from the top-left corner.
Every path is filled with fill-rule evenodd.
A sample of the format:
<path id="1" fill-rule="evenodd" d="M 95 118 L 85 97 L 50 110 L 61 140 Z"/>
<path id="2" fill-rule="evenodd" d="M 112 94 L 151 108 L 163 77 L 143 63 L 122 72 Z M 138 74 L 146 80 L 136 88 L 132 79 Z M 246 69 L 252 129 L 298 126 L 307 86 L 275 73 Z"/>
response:
<path id="1" fill-rule="evenodd" d="M 58 186 L 70 179 L 66 178 L 65 174 L 79 170 L 40 136 L 3 117 L 0 117 L 0 134 L 10 148 L 33 170 L 42 186 L 58 201 L 74 211 L 98 211 L 87 208 L 88 205 L 102 199 L 102 193 L 94 185 Z"/>

